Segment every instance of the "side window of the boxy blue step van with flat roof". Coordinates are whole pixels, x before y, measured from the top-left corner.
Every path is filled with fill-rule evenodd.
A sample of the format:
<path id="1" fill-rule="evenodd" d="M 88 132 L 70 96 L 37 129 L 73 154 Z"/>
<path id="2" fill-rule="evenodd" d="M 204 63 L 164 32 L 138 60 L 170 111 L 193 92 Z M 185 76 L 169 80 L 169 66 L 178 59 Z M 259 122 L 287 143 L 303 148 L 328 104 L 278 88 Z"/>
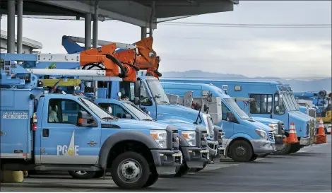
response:
<path id="1" fill-rule="evenodd" d="M 272 95 L 251 94 L 249 98 L 255 101 L 250 103 L 250 113 L 252 114 L 271 114 Z"/>

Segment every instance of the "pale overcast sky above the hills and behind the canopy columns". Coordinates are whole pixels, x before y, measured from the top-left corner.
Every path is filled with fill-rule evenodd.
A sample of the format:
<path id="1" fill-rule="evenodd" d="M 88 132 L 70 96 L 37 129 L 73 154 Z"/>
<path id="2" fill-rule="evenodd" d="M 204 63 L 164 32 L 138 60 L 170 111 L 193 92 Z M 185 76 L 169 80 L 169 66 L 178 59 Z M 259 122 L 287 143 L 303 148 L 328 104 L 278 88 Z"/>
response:
<path id="1" fill-rule="evenodd" d="M 6 30 L 6 17 L 1 30 Z M 177 22 L 331 24 L 331 1 L 239 1 L 235 10 Z M 139 27 L 99 23 L 99 39 L 133 43 Z M 23 19 L 23 36 L 42 52 L 65 53 L 62 35 L 84 37 L 84 21 Z M 154 49 L 160 71 L 191 69 L 244 76 L 331 77 L 331 28 L 215 28 L 158 24 Z"/>

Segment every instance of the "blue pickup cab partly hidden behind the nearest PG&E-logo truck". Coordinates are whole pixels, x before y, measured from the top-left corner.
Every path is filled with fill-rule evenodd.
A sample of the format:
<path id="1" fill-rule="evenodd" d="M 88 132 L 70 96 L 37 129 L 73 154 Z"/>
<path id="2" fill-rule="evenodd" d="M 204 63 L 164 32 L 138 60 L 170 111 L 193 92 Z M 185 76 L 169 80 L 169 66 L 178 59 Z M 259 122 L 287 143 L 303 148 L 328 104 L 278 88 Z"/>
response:
<path id="1" fill-rule="evenodd" d="M 210 147 L 207 146 L 205 127 L 198 127 L 196 124 L 180 120 L 155 120 L 129 100 L 97 99 L 96 103 L 119 118 L 143 120 L 148 122 L 147 124 L 153 122 L 170 124 L 177 127 L 179 129 L 179 147 L 184 156 L 184 163 L 177 170 L 178 176 L 186 174 L 189 170 L 202 170 L 208 164 L 210 159 L 208 148 Z"/>

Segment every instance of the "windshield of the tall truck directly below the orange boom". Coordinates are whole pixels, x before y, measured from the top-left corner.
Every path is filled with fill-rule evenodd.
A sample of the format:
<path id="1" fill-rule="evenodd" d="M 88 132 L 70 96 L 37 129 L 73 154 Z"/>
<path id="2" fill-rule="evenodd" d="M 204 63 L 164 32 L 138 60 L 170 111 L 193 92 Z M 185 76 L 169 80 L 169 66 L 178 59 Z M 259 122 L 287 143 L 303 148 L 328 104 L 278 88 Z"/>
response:
<path id="1" fill-rule="evenodd" d="M 158 80 L 147 80 L 148 87 L 150 88 L 151 94 L 155 99 L 155 103 L 157 104 L 170 104 L 170 100 L 168 100 L 165 90 L 162 88 L 160 82 Z"/>

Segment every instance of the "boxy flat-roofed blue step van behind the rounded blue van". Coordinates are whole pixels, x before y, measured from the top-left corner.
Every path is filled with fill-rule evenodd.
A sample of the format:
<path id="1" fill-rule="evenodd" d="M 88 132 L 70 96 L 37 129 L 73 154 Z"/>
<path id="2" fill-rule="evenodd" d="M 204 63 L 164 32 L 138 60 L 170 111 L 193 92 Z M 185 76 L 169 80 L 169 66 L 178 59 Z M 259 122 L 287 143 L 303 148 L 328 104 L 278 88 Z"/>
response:
<path id="1" fill-rule="evenodd" d="M 285 131 L 289 130 L 290 123 L 296 126 L 297 137 L 300 143 L 285 144 L 280 153 L 295 153 L 304 146 L 314 144 L 316 120 L 300 112 L 292 90 L 283 83 L 276 81 L 215 81 L 215 80 L 186 80 L 169 79 L 170 82 L 206 83 L 225 89 L 227 94 L 234 98 L 254 98 L 255 101 L 244 112 L 255 117 L 273 118 L 285 124 Z M 250 108 L 249 108 L 250 107 Z M 287 132 L 286 132 L 287 134 Z"/>

